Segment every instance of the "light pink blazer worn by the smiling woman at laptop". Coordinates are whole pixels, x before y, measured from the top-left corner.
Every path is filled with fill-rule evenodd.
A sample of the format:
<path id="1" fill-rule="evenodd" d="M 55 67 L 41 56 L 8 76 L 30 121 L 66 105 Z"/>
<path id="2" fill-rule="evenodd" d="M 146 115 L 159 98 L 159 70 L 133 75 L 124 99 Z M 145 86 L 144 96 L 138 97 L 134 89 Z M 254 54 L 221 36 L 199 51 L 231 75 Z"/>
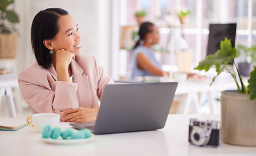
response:
<path id="1" fill-rule="evenodd" d="M 92 55 L 79 55 L 71 62 L 74 83 L 57 81 L 57 73 L 51 64 L 47 70 L 36 60 L 21 71 L 18 77 L 23 99 L 33 114 L 61 111 L 75 107 L 76 95 L 79 107 L 98 107 L 105 86 L 113 83 Z"/>

